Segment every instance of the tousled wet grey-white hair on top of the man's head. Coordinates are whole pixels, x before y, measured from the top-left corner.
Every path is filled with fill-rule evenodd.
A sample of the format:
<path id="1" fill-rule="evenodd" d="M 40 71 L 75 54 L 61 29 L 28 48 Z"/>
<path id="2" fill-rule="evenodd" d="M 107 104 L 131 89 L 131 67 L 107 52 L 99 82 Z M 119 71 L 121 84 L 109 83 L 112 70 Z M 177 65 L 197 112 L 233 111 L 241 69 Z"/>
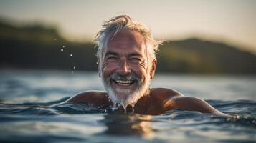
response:
<path id="1" fill-rule="evenodd" d="M 163 41 L 153 39 L 151 31 L 144 24 L 134 21 L 130 16 L 120 15 L 113 17 L 109 21 L 105 21 L 102 26 L 103 29 L 100 30 L 95 37 L 95 41 L 98 41 L 98 51 L 96 55 L 98 56 L 98 64 L 100 64 L 100 66 L 103 62 L 104 49 L 108 44 L 108 40 L 123 30 L 138 31 L 144 38 L 149 59 L 156 59 L 156 51 L 158 51 L 158 46 L 162 44 Z"/>

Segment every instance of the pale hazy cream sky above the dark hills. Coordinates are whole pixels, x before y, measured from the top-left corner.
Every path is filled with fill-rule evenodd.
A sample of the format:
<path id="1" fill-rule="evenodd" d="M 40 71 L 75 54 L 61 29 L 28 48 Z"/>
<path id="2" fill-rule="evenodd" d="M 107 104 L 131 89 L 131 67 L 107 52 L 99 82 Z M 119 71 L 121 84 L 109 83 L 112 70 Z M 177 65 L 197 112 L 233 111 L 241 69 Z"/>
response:
<path id="1" fill-rule="evenodd" d="M 127 14 L 156 39 L 197 37 L 256 54 L 255 0 L 0 0 L 0 18 L 57 26 L 72 41 L 92 41 L 103 21 Z"/>

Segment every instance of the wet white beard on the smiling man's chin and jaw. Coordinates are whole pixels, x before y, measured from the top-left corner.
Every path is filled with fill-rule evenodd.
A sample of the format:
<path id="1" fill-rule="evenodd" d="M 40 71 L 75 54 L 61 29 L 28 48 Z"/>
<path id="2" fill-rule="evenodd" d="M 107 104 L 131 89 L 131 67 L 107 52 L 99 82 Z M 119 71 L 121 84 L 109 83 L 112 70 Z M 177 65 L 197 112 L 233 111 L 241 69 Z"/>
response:
<path id="1" fill-rule="evenodd" d="M 113 102 L 114 107 L 117 103 L 119 105 L 122 105 L 124 109 L 126 109 L 128 104 L 131 104 L 131 106 L 134 107 L 136 102 L 138 102 L 138 99 L 143 97 L 144 94 L 147 92 L 150 84 L 150 76 L 147 76 L 144 83 L 137 83 L 138 87 L 135 90 L 120 88 L 113 89 L 110 85 L 110 79 L 104 79 L 103 76 L 101 77 L 105 90 L 108 92 L 108 97 Z"/>

